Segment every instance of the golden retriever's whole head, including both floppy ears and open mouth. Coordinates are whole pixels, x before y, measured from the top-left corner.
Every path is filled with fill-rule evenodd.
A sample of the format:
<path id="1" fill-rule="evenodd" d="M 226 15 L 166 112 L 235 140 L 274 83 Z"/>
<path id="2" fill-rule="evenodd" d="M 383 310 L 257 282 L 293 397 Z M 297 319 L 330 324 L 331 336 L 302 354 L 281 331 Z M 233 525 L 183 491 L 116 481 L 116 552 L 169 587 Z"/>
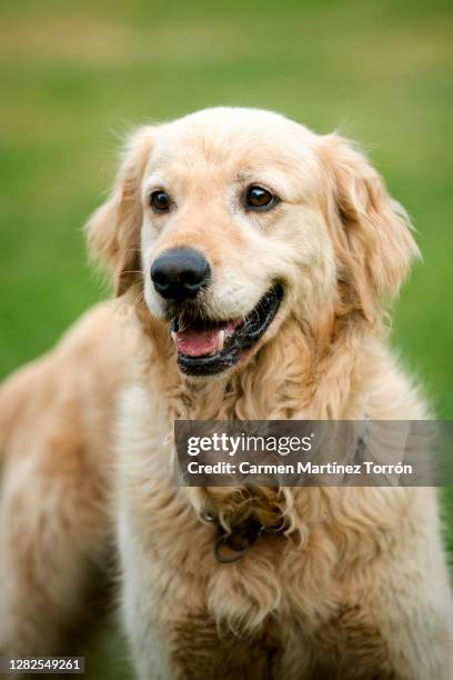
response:
<path id="1" fill-rule="evenodd" d="M 143 287 L 190 376 L 242 363 L 290 317 L 374 324 L 417 253 L 348 141 L 228 108 L 140 129 L 89 240 L 117 293 Z"/>

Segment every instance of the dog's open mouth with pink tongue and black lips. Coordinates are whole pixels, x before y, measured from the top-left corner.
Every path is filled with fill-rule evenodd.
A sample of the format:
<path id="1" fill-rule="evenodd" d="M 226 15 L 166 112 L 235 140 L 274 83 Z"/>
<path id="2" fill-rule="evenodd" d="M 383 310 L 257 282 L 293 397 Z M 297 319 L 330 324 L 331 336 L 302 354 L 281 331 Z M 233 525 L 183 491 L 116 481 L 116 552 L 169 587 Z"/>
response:
<path id="1" fill-rule="evenodd" d="M 231 368 L 262 338 L 273 321 L 283 289 L 272 286 L 243 319 L 214 321 L 185 312 L 171 321 L 171 337 L 178 349 L 178 366 L 189 376 L 212 376 Z"/>

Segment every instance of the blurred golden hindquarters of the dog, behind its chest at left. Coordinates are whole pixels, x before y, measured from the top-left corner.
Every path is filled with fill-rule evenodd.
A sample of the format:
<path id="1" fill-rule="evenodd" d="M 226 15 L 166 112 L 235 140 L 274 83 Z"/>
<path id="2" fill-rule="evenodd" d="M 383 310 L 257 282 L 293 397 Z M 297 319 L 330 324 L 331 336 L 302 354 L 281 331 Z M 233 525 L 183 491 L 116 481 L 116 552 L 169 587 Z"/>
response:
<path id="1" fill-rule="evenodd" d="M 0 391 L 0 653 L 73 654 L 104 609 L 124 321 L 99 304 Z"/>

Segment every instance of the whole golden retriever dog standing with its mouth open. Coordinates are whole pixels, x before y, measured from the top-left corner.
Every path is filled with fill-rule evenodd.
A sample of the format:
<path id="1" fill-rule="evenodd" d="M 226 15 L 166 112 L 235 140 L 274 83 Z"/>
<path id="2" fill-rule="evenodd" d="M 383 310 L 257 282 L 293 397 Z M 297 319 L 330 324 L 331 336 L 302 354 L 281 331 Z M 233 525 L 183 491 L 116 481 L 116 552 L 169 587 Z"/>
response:
<path id="1" fill-rule="evenodd" d="M 364 156 L 260 110 L 144 127 L 88 236 L 128 311 L 3 389 L 0 649 L 61 644 L 112 536 L 141 680 L 451 679 L 434 490 L 175 482 L 179 419 L 429 417 L 382 302 L 417 248 Z"/>

